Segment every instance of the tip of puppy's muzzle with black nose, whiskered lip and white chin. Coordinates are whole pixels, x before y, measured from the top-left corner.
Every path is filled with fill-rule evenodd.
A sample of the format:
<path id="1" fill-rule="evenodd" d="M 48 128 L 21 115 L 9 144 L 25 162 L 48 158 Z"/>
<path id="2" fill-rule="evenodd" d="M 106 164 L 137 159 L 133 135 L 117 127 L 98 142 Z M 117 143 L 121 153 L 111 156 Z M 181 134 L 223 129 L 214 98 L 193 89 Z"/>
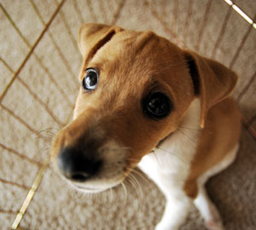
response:
<path id="1" fill-rule="evenodd" d="M 55 160 L 61 178 L 81 193 L 101 193 L 118 186 L 125 180 L 130 165 L 129 148 L 113 140 L 100 147 L 91 142 L 96 141 L 62 147 Z"/>

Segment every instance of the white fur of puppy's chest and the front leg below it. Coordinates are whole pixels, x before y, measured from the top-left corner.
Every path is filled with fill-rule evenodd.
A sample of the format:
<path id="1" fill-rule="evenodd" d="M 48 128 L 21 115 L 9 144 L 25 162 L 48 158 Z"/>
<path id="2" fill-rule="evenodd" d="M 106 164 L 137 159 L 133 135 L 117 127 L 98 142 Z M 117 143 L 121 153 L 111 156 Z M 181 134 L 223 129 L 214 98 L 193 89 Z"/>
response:
<path id="1" fill-rule="evenodd" d="M 153 153 L 144 156 L 140 168 L 166 195 L 166 210 L 155 229 L 178 229 L 187 216 L 192 199 L 183 191 L 200 133 L 200 101 L 193 101 L 180 127 Z"/>

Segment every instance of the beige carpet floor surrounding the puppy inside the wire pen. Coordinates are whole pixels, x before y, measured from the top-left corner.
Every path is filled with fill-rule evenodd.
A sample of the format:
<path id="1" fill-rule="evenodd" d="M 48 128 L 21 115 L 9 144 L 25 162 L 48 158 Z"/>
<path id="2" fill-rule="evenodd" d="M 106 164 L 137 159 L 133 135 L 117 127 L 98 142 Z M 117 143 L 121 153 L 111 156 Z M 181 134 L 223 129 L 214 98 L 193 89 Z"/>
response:
<path id="1" fill-rule="evenodd" d="M 60 0 L 0 3 L 1 229 L 11 228 L 49 156 L 52 136 L 71 118 L 82 22 L 152 30 L 230 66 L 240 77 L 233 95 L 256 129 L 256 30 L 223 0 L 67 0 L 59 11 Z M 236 4 L 255 17 L 254 0 Z M 256 229 L 255 165 L 256 140 L 243 128 L 235 164 L 207 184 L 227 230 Z M 126 194 L 117 187 L 85 196 L 49 166 L 17 229 L 154 229 L 165 199 L 151 181 L 137 180 L 140 187 L 127 185 Z M 197 210 L 182 229 L 206 229 Z"/>

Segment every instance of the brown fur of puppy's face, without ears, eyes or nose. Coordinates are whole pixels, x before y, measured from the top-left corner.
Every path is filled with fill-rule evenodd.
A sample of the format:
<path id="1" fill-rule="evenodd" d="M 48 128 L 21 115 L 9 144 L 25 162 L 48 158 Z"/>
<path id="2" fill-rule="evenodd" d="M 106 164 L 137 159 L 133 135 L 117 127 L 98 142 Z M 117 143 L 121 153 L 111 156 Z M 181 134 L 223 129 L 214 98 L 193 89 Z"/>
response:
<path id="1" fill-rule="evenodd" d="M 105 31 L 108 35 L 109 30 Z M 61 147 L 74 145 L 95 125 L 101 126 L 105 136 L 114 137 L 131 149 L 130 165 L 134 167 L 161 139 L 177 129 L 180 118 L 193 100 L 193 85 L 181 49 L 153 32 L 119 30 L 111 42 L 116 45 L 105 43 L 104 49 L 100 48 L 90 58 L 83 54 L 87 49 L 81 49 L 86 60 L 84 65 L 88 63 L 82 66 L 80 79 L 84 70 L 93 66 L 100 70 L 100 83 L 93 93 L 84 93 L 80 89 L 74 120 L 54 141 L 54 161 Z M 95 47 L 94 44 L 91 46 Z M 152 52 L 155 47 L 157 49 Z M 141 100 L 149 89 L 161 89 L 175 101 L 171 116 L 160 121 L 145 117 Z M 76 135 L 68 135 L 72 132 Z"/>

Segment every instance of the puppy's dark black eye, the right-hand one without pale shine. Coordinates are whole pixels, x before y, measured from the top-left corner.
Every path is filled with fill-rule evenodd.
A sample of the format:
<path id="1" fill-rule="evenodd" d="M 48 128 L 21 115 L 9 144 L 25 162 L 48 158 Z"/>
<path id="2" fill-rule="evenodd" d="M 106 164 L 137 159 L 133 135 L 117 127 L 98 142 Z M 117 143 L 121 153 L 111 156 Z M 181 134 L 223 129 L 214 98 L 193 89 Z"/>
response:
<path id="1" fill-rule="evenodd" d="M 150 118 L 166 118 L 172 112 L 172 101 L 165 94 L 156 92 L 143 101 L 143 112 Z"/>

